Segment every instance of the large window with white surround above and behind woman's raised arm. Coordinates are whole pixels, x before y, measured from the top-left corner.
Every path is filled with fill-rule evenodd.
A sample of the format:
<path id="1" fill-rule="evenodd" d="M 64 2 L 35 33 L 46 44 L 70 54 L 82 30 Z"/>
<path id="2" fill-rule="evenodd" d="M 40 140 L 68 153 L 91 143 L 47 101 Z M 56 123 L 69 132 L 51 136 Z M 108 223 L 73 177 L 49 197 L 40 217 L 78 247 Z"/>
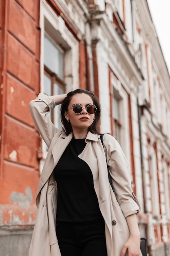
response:
<path id="1" fill-rule="evenodd" d="M 40 28 L 41 92 L 54 95 L 75 90 L 79 87 L 79 41 L 47 1 L 40 1 Z M 61 128 L 59 107 L 56 106 L 49 117 L 57 128 Z M 48 148 L 42 141 L 40 173 L 47 152 Z"/>

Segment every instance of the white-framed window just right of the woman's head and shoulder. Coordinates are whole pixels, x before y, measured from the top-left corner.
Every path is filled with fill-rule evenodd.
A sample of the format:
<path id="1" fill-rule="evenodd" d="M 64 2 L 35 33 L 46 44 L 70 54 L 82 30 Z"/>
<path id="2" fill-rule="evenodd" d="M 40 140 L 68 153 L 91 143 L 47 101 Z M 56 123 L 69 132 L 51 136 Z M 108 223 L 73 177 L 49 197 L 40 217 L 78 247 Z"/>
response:
<path id="1" fill-rule="evenodd" d="M 128 93 L 110 67 L 108 67 L 108 74 L 109 111 L 106 108 L 106 112 L 110 117 L 110 133 L 119 142 L 128 159 L 129 171 L 133 173 L 133 152 L 131 152 L 133 141 L 131 139 L 132 136 L 129 136 L 131 116 Z"/>

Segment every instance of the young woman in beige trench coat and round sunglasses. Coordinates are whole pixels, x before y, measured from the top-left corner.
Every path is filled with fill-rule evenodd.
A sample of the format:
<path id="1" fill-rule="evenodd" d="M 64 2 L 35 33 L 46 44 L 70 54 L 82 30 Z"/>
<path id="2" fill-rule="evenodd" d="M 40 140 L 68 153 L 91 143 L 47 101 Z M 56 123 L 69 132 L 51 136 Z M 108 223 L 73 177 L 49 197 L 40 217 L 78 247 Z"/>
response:
<path id="1" fill-rule="evenodd" d="M 62 130 L 47 115 L 59 104 Z M 127 160 L 114 137 L 103 135 L 103 148 L 97 97 L 81 89 L 51 97 L 40 93 L 30 111 L 49 151 L 29 256 L 141 255 L 139 204 Z"/>

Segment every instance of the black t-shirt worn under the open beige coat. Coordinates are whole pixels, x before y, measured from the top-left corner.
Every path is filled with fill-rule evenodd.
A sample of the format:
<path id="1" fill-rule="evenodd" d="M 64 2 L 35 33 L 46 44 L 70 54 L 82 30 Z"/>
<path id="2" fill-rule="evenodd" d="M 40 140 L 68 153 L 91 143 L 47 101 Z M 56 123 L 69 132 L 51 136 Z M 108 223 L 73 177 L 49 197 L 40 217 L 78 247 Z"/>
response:
<path id="1" fill-rule="evenodd" d="M 72 139 L 54 168 L 57 182 L 57 221 L 82 222 L 102 218 L 93 175 L 78 157 L 85 139 Z"/>

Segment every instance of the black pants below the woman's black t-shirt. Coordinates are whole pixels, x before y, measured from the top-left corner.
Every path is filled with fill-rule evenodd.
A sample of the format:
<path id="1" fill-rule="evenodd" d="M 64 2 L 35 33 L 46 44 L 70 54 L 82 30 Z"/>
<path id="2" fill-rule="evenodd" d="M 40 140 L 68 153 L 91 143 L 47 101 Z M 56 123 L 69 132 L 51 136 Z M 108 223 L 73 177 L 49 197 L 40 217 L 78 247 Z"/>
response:
<path id="1" fill-rule="evenodd" d="M 107 256 L 104 220 L 57 221 L 56 234 L 62 256 Z"/>

